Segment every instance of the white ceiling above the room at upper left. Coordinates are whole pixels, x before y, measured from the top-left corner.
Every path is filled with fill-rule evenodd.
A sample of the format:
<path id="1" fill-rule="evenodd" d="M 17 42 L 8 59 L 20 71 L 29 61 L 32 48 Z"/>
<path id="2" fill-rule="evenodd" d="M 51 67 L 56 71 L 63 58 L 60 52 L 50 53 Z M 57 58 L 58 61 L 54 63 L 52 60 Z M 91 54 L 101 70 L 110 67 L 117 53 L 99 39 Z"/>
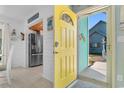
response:
<path id="1" fill-rule="evenodd" d="M 24 18 L 31 14 L 38 5 L 0 5 L 0 16 L 5 16 L 17 21 L 24 21 Z"/>

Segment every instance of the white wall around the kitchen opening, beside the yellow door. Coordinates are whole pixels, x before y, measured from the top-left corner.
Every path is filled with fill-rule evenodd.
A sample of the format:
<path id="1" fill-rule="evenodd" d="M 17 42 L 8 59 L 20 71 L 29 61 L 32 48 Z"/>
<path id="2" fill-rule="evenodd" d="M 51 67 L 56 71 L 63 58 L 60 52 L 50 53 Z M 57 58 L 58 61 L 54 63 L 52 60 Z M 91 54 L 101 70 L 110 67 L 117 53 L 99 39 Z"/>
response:
<path id="1" fill-rule="evenodd" d="M 54 6 L 50 5 L 41 5 L 38 6 L 35 11 L 32 11 L 29 16 L 27 16 L 27 19 L 33 16 L 35 13 L 40 13 L 40 18 L 38 18 L 36 21 L 43 20 L 43 76 L 53 81 L 54 79 L 54 56 L 53 56 L 53 31 L 47 31 L 47 18 L 53 16 L 54 13 Z M 26 19 L 26 38 L 28 38 L 28 33 L 30 31 L 27 29 L 28 26 L 31 26 L 36 21 L 27 24 Z M 27 42 L 27 41 L 26 41 Z M 26 45 L 26 58 L 28 58 L 28 45 Z M 28 59 L 26 59 L 26 62 L 28 64 Z M 27 65 L 28 66 L 28 65 Z"/>

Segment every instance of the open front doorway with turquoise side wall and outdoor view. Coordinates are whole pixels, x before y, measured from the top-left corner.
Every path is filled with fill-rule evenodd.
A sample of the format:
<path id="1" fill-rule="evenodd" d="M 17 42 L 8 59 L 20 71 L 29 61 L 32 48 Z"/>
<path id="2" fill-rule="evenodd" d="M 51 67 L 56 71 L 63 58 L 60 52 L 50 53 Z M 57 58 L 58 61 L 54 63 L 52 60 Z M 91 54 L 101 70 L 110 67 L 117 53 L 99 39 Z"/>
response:
<path id="1" fill-rule="evenodd" d="M 109 9 L 84 11 L 79 13 L 78 20 L 79 76 L 106 84 L 111 84 L 112 70 L 112 16 Z"/>

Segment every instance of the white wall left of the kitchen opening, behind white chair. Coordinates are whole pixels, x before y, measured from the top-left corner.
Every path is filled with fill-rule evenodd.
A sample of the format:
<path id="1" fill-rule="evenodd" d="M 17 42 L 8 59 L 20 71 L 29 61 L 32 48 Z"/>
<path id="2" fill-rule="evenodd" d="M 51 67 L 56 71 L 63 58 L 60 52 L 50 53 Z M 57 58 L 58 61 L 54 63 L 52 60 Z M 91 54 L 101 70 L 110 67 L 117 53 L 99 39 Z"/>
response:
<path id="1" fill-rule="evenodd" d="M 16 21 L 11 18 L 0 15 L 0 21 L 4 23 L 9 23 L 12 29 L 16 29 L 17 35 L 20 32 L 24 32 L 23 23 Z M 15 46 L 14 54 L 12 59 L 12 67 L 25 67 L 25 41 L 18 39 L 17 41 L 11 42 Z"/>

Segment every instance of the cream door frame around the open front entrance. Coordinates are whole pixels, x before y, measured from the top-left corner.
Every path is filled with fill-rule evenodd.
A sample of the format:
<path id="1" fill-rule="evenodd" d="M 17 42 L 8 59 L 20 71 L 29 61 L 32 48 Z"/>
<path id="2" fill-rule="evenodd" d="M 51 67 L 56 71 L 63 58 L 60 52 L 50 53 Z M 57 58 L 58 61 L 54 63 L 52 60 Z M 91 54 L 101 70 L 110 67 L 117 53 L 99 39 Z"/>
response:
<path id="1" fill-rule="evenodd" d="M 116 87 L 116 68 L 115 68 L 115 6 L 107 6 L 107 5 L 103 5 L 103 6 L 91 6 L 89 8 L 83 9 L 81 11 L 79 11 L 77 13 L 78 17 L 80 16 L 86 16 L 95 12 L 99 12 L 99 11 L 106 11 L 106 12 L 111 12 L 110 16 L 111 18 L 109 19 L 110 24 L 108 27 L 108 30 L 110 30 L 112 32 L 112 38 L 111 40 L 113 41 L 111 44 L 111 53 L 112 53 L 112 61 L 110 62 L 110 64 L 107 64 L 107 82 L 109 82 L 109 86 L 108 87 Z M 78 41 L 77 41 L 78 42 Z M 78 60 L 77 60 L 78 61 Z M 111 69 L 109 68 L 111 67 Z M 77 67 L 78 68 L 78 67 Z M 110 76 L 108 76 L 108 70 L 110 70 L 109 73 Z"/>

